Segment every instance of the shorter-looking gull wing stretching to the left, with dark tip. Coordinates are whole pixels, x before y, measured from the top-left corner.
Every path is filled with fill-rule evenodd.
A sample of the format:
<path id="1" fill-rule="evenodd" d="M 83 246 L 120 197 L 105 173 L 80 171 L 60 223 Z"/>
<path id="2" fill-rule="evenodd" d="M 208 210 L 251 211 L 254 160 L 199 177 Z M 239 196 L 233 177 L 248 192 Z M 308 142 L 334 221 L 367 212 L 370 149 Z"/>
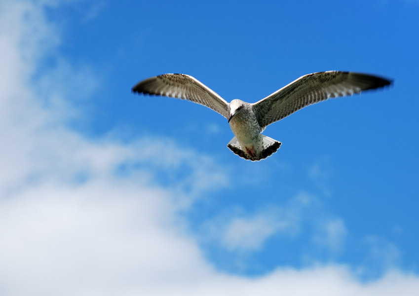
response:
<path id="1" fill-rule="evenodd" d="M 160 95 L 192 101 L 214 111 L 226 118 L 228 103 L 216 92 L 185 74 L 163 74 L 145 79 L 132 88 L 133 92 Z"/>

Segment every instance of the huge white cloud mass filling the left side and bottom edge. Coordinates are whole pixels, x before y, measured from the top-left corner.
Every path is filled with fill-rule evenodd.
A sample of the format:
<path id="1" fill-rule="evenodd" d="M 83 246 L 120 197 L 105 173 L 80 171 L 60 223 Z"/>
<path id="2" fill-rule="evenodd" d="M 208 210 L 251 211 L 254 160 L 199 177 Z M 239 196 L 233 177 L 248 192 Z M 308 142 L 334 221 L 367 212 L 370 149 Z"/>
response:
<path id="1" fill-rule="evenodd" d="M 179 199 L 227 186 L 228 176 L 166 139 L 124 144 L 66 127 L 63 111 L 43 104 L 54 94 L 30 83 L 59 40 L 39 3 L 46 2 L 0 4 L 1 295 L 418 294 L 419 278 L 399 271 L 362 284 L 334 265 L 254 279 L 214 270 L 178 215 Z M 88 94 L 90 86 L 72 80 L 79 70 L 67 69 L 66 82 Z M 65 91 L 54 91 L 67 102 Z M 156 174 L 181 166 L 190 173 L 167 176 L 179 185 L 158 183 Z"/>

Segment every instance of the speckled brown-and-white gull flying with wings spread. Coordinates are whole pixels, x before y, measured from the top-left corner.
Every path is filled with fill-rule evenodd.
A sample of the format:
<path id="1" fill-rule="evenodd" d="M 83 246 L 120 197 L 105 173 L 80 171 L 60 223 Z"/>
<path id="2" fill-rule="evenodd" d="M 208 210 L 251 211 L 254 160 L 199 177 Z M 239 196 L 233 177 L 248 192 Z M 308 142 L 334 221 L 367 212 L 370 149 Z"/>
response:
<path id="1" fill-rule="evenodd" d="M 391 80 L 374 75 L 327 71 L 301 76 L 259 102 L 227 103 L 213 90 L 190 75 L 163 74 L 145 79 L 133 92 L 189 100 L 217 111 L 228 119 L 234 136 L 228 148 L 238 156 L 259 161 L 281 146 L 261 133 L 271 123 L 308 105 L 390 85 Z"/>

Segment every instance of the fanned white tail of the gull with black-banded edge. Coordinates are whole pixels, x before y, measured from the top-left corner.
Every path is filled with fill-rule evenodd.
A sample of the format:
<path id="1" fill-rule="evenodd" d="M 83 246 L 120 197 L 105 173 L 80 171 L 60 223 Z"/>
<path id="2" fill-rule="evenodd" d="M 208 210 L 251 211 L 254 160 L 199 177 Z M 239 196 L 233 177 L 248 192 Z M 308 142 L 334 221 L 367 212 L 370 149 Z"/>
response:
<path id="1" fill-rule="evenodd" d="M 278 142 L 276 140 L 273 140 L 272 138 L 269 138 L 265 135 L 261 135 L 263 140 L 263 148 L 260 151 L 257 151 L 256 156 L 251 156 L 247 152 L 245 152 L 245 149 L 243 149 L 240 145 L 240 142 L 237 140 L 236 137 L 233 137 L 227 147 L 233 151 L 238 156 L 252 161 L 259 161 L 261 159 L 265 159 L 268 156 L 272 155 L 276 152 L 276 150 L 279 149 L 281 146 L 281 142 Z"/>

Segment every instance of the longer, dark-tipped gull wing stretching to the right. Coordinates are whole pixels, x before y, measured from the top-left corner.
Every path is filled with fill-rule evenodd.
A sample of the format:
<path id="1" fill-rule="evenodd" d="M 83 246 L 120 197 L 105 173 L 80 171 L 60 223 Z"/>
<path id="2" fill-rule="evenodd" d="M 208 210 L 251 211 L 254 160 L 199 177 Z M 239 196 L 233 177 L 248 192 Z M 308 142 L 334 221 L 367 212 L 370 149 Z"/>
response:
<path id="1" fill-rule="evenodd" d="M 368 74 L 342 71 L 304 75 L 254 103 L 262 129 L 308 105 L 390 85 L 392 81 Z"/>

